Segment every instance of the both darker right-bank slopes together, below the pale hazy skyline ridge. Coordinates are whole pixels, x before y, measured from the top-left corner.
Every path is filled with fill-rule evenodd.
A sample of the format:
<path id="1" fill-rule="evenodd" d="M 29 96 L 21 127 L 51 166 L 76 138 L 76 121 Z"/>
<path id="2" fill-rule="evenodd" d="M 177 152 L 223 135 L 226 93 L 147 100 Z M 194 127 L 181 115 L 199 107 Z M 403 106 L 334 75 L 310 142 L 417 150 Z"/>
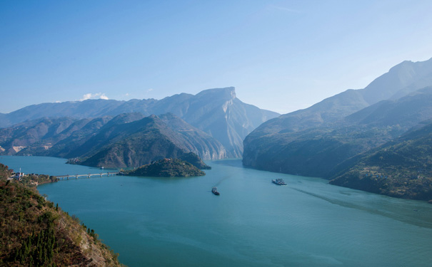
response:
<path id="1" fill-rule="evenodd" d="M 432 87 L 335 121 L 322 116 L 326 101 L 258 127 L 244 141 L 243 164 L 392 197 L 432 199 L 432 129 L 424 127 L 431 122 Z M 302 115 L 308 120 L 294 120 Z"/>

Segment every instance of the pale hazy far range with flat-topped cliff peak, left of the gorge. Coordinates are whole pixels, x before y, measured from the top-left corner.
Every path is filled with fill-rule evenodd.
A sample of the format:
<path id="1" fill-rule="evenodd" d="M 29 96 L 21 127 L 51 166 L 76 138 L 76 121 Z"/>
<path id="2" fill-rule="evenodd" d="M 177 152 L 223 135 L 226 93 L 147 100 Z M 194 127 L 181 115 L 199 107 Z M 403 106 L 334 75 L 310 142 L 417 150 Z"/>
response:
<path id="1" fill-rule="evenodd" d="M 88 119 L 131 112 L 143 117 L 170 112 L 216 138 L 226 148 L 227 157 L 241 157 L 244 137 L 261 123 L 279 115 L 241 102 L 236 98 L 235 88 L 229 87 L 204 90 L 196 95 L 181 93 L 162 100 L 85 100 L 30 105 L 1 114 L 0 127 L 41 117 Z"/>

